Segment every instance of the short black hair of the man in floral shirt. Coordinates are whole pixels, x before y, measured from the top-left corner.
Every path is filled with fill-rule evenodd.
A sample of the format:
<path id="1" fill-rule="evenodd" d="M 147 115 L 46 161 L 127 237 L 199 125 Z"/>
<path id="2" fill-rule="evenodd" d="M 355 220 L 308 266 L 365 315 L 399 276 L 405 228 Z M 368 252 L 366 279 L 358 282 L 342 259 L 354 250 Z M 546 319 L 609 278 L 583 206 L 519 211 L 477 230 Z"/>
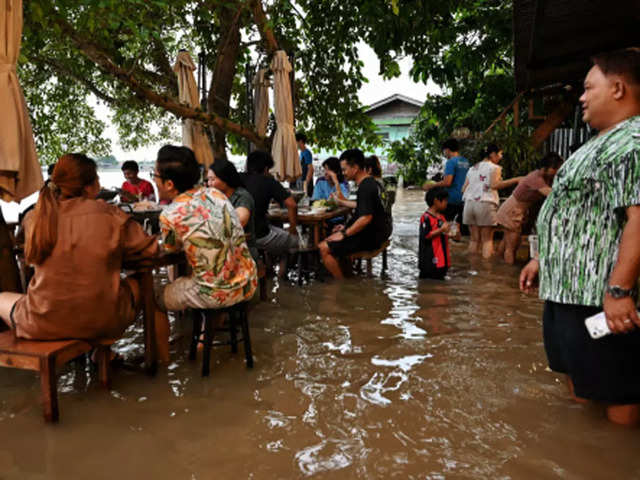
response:
<path id="1" fill-rule="evenodd" d="M 200 165 L 188 147 L 165 145 L 158 150 L 156 160 L 158 174 L 163 180 L 171 180 L 178 192 L 186 192 L 200 181 Z"/>

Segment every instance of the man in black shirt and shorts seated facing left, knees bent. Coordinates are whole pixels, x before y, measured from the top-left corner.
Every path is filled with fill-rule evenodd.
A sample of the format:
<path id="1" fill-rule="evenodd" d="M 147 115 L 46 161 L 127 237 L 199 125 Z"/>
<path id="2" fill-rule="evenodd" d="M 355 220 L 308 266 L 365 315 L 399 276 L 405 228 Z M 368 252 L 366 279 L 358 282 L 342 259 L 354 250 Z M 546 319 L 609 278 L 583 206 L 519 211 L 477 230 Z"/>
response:
<path id="1" fill-rule="evenodd" d="M 380 200 L 380 187 L 365 171 L 362 151 L 343 152 L 340 163 L 346 179 L 358 185 L 356 209 L 347 225 L 336 227 L 335 233 L 319 245 L 324 266 L 337 279 L 344 277 L 337 260 L 339 257 L 376 250 L 391 235 L 391 224 Z"/>

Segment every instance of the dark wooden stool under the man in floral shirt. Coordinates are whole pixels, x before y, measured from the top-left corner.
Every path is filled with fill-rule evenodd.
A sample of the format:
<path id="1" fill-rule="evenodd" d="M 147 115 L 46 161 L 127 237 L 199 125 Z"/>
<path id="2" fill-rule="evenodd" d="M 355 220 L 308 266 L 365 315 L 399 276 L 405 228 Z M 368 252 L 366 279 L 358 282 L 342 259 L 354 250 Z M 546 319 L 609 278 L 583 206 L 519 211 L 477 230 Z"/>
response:
<path id="1" fill-rule="evenodd" d="M 202 376 L 208 377 L 211 368 L 211 348 L 223 345 L 231 345 L 231 352 L 238 352 L 238 342 L 244 344 L 244 356 L 247 368 L 253 368 L 253 354 L 251 351 L 251 336 L 249 335 L 249 313 L 247 311 L 248 302 L 241 302 L 232 307 L 218 310 L 193 310 L 193 333 L 191 345 L 189 347 L 189 360 L 195 360 L 198 351 L 198 343 L 202 343 Z M 215 328 L 215 323 L 221 323 L 223 316 L 228 315 L 227 328 Z M 204 339 L 202 325 L 204 323 Z M 242 330 L 242 337 L 238 338 L 237 328 Z M 228 331 L 229 341 L 214 341 L 215 331 Z"/>

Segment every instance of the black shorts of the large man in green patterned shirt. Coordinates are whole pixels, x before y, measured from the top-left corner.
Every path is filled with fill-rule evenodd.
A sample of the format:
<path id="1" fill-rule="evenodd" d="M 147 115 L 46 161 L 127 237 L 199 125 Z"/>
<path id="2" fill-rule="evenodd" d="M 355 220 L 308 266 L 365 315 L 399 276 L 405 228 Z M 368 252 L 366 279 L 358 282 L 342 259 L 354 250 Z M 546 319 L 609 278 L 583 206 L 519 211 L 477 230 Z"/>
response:
<path id="1" fill-rule="evenodd" d="M 581 398 L 614 404 L 640 403 L 640 330 L 594 340 L 584 320 L 602 308 L 544 305 L 543 336 L 549 367 L 569 375 Z"/>

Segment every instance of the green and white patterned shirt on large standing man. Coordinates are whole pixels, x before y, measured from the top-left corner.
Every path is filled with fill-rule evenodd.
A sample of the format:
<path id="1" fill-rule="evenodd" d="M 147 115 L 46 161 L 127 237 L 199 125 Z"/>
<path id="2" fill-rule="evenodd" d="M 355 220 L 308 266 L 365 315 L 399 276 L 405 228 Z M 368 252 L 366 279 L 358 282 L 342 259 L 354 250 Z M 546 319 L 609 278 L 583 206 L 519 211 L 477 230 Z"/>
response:
<path id="1" fill-rule="evenodd" d="M 537 222 L 540 298 L 601 306 L 633 205 L 640 205 L 640 116 L 591 139 L 559 170 Z"/>

